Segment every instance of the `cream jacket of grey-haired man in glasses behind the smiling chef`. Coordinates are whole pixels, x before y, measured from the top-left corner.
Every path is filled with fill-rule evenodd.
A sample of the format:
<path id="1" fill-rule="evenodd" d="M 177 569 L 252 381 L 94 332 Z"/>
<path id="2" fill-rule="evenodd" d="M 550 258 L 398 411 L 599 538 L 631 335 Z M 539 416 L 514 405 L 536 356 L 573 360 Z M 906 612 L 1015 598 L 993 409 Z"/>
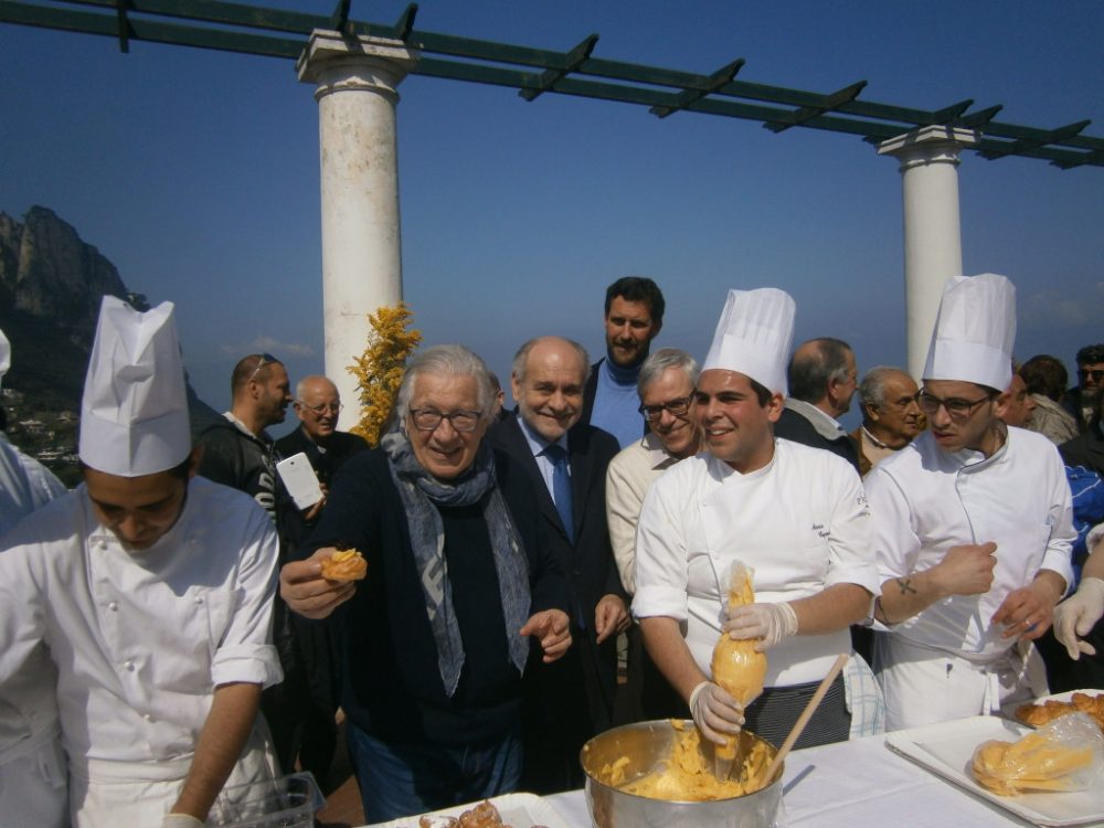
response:
<path id="1" fill-rule="evenodd" d="M 678 458 L 664 448 L 662 440 L 648 433 L 644 439 L 623 449 L 606 468 L 606 522 L 609 544 L 622 585 L 629 595 L 636 592 L 636 522 L 648 487 Z"/>

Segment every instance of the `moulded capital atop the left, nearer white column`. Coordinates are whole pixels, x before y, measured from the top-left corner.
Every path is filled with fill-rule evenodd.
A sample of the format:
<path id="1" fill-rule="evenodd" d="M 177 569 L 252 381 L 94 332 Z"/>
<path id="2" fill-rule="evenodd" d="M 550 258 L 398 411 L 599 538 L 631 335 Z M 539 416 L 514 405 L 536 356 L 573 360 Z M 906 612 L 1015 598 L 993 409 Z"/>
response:
<path id="1" fill-rule="evenodd" d="M 316 29 L 295 63 L 302 83 L 317 84 L 315 98 L 332 92 L 362 89 L 397 99 L 395 88 L 417 64 L 420 53 L 400 40 L 346 38 Z"/>

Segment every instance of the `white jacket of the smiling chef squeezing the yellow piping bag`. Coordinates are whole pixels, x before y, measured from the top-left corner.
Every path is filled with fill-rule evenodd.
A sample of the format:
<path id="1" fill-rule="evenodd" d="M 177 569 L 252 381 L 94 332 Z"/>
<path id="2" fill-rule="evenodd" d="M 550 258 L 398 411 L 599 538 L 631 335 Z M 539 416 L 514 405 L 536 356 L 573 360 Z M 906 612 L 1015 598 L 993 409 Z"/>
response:
<path id="1" fill-rule="evenodd" d="M 633 613 L 678 620 L 708 676 L 726 617 L 721 578 L 733 560 L 754 569 L 762 603 L 809 597 L 840 583 L 877 595 L 869 524 L 858 474 L 831 452 L 776 439 L 771 463 L 747 475 L 699 454 L 665 471 L 645 496 Z M 765 686 L 819 681 L 850 650 L 846 627 L 787 638 L 767 654 Z"/>

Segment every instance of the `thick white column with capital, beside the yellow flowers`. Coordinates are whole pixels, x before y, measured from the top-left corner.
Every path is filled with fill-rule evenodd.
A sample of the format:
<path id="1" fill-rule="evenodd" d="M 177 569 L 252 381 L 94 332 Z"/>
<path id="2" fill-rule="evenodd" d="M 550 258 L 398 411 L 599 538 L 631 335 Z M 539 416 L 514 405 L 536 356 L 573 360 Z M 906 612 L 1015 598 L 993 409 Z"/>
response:
<path id="1" fill-rule="evenodd" d="M 364 351 L 368 315 L 403 298 L 395 87 L 417 56 L 401 41 L 316 30 L 296 63 L 299 79 L 317 84 L 326 375 L 346 428 L 359 418 L 347 369 Z"/>

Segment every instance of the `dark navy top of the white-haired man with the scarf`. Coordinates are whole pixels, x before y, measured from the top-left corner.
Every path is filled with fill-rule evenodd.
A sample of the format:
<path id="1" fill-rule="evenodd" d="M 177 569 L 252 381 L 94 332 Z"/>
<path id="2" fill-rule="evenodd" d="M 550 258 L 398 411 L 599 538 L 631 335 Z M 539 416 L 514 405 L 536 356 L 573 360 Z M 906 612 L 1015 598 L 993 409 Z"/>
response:
<path id="1" fill-rule="evenodd" d="M 566 586 L 543 534 L 533 489 L 509 457 L 496 454 L 495 464 L 499 490 L 529 560 L 530 612 L 553 607 L 566 612 Z M 464 562 L 464 550 L 450 549 L 448 541 L 454 527 L 478 533 L 480 520 L 478 514 L 461 514 L 455 521 L 444 518 L 454 586 L 466 566 L 487 571 L 486 556 Z M 406 512 L 380 449 L 361 453 L 341 467 L 318 526 L 296 556 L 308 558 L 316 549 L 337 543 L 359 549 L 368 561 L 368 576 L 328 620 L 343 654 L 342 708 L 350 721 L 397 744 L 488 745 L 516 730 L 521 677 L 508 660 L 506 640 L 516 630 L 505 628 L 493 570 L 477 583 L 466 581 L 465 588 L 471 592 L 457 596 L 455 604 L 461 635 L 461 602 L 468 607 L 475 604 L 480 622 L 497 625 L 500 635 L 465 639 L 468 658 L 449 698 L 437 667 Z M 501 658 L 492 658 L 495 652 Z"/>

